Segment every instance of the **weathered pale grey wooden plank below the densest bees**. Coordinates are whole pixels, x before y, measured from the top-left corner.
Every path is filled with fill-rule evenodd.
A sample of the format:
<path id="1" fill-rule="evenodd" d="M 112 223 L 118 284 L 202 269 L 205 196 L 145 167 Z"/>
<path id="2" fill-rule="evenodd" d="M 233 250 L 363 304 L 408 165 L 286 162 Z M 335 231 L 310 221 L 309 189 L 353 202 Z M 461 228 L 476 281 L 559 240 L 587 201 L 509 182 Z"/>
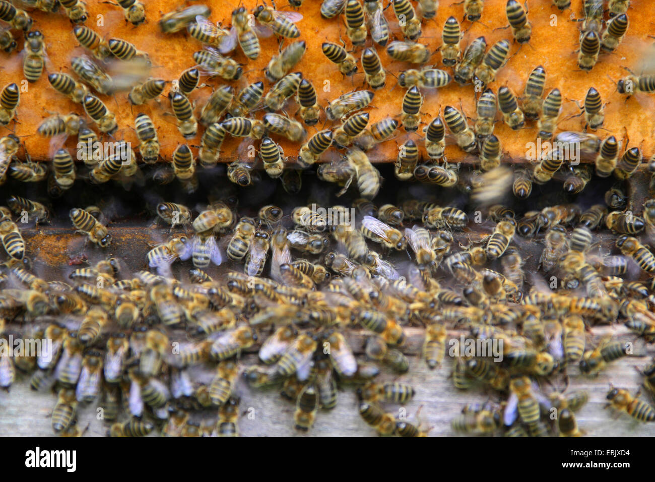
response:
<path id="1" fill-rule="evenodd" d="M 576 418 L 582 430 L 589 436 L 612 437 L 648 437 L 655 435 L 655 424 L 635 422 L 626 414 L 616 417 L 610 409 L 604 409 L 605 399 L 610 384 L 625 388 L 635 394 L 641 386 L 642 377 L 635 367 L 641 369 L 655 355 L 655 348 L 634 340 L 623 327 L 596 327 L 592 337 L 596 342 L 608 332 L 614 332 L 616 339 L 634 342 L 634 355 L 610 363 L 608 368 L 595 378 L 581 376 L 578 367 L 569 367 L 569 390 L 586 390 L 589 401 L 577 414 Z M 459 332 L 449 332 L 449 338 L 457 337 Z M 422 422 L 424 428 L 431 428 L 429 435 L 453 436 L 460 435 L 451 429 L 451 420 L 457 416 L 466 403 L 483 402 L 491 397 L 498 401 L 498 395 L 492 390 L 485 391 L 482 387 L 459 391 L 453 387 L 449 379 L 451 359 L 447 357 L 443 365 L 430 371 L 419 357 L 422 342 L 422 329 L 407 329 L 408 340 L 404 350 L 409 355 L 410 370 L 407 374 L 398 375 L 383 369 L 378 377 L 380 381 L 395 380 L 411 384 L 416 395 L 406 405 L 384 403 L 383 407 L 396 416 L 406 414 L 407 420 Z M 354 350 L 361 352 L 365 334 L 356 332 L 350 336 L 349 342 Z M 590 340 L 590 341 L 592 341 Z M 242 357 L 242 365 L 257 363 L 254 353 Z M 205 374 L 209 372 L 206 371 Z M 561 376 L 556 379 L 559 390 L 565 388 L 565 380 Z M 553 390 L 548 383 L 542 382 L 543 393 Z M 306 435 L 293 428 L 294 405 L 286 401 L 276 390 L 253 390 L 242 380 L 239 381 L 236 393 L 240 396 L 240 416 L 238 425 L 242 436 L 375 436 L 375 430 L 364 423 L 357 412 L 357 398 L 353 388 L 345 388 L 339 392 L 337 407 L 332 411 L 319 411 L 314 428 Z M 641 397 L 650 403 L 654 400 L 648 392 Z M 0 392 L 0 436 L 54 436 L 50 428 L 49 414 L 54 407 L 56 397 L 53 393 L 33 392 L 29 389 L 28 380 L 17 380 L 9 393 Z M 96 401 L 81 407 L 78 412 L 79 426 L 88 426 L 84 436 L 100 437 L 106 435 L 107 425 L 96 418 Z M 252 415 L 249 416 L 248 412 Z M 500 435 L 502 431 L 497 434 Z M 155 436 L 155 435 L 151 435 Z"/>

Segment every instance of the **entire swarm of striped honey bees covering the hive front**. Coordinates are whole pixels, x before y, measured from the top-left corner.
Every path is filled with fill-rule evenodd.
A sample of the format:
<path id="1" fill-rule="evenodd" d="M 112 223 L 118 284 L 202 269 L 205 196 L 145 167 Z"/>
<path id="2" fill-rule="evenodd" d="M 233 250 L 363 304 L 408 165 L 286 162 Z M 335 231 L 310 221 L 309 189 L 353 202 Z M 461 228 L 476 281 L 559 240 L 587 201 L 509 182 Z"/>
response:
<path id="1" fill-rule="evenodd" d="M 566 0 L 553 3 L 561 10 L 570 6 Z M 302 4 L 302 0 L 291 2 L 295 8 Z M 127 22 L 134 26 L 144 22 L 142 3 L 118 0 L 118 5 Z M 465 0 L 464 20 L 481 20 L 483 5 L 481 0 Z M 8 257 L 0 271 L 2 336 L 14 334 L 17 319 L 28 319 L 31 323 L 16 332 L 18 337 L 45 338 L 53 345 L 42 355 L 1 356 L 0 386 L 9 388 L 18 372 L 30 377 L 34 390 L 56 390 L 55 433 L 82 435 L 77 409 L 98 399 L 113 436 L 145 436 L 156 428 L 171 436 L 234 436 L 240 417 L 238 383 L 244 382 L 253 388 L 277 388 L 295 403 L 297 430 L 310 430 L 319 409 L 329 411 L 337 405 L 339 388 L 352 387 L 360 416 L 380 435 L 426 436 L 427 427 L 386 408 L 386 403 L 407 403 L 415 389 L 403 382 L 376 380 L 380 365 L 398 374 L 409 371 L 403 354 L 407 327 L 424 327 L 422 359 L 430 369 L 444 364 L 453 329 L 463 328 L 475 340 L 502 341 L 502 361 L 468 353 L 465 346 L 457 345 L 452 364 L 455 388 L 483 386 L 493 390 L 496 400 L 466 405 L 453 420 L 453 430 L 579 436 L 584 429 L 578 428 L 574 412 L 584 406 L 588 394 L 567 390 L 544 394 L 538 382 L 566 374 L 571 365 L 596 376 L 608 364 L 630 355 L 622 342 L 611 338 L 590 346 L 586 335 L 590 326 L 621 320 L 635 336 L 647 343 L 655 341 L 655 283 L 627 279 L 655 273 L 655 255 L 640 241 L 642 231 L 648 234 L 655 228 L 655 201 L 645 201 L 643 215 L 633 214 L 620 184 L 642 163 L 641 148 L 622 149 L 618 134 L 601 140 L 588 132 L 601 129 L 604 122 L 605 104 L 593 87 L 582 100 L 585 131 L 555 134 L 565 95 L 553 89 L 544 96 L 542 66 L 529 73 L 521 98 L 506 85 L 497 94 L 489 87 L 510 58 L 512 39 L 519 45 L 531 39 L 527 5 L 508 0 L 512 39 L 502 39 L 489 50 L 484 37 L 462 49 L 460 22 L 448 18 L 440 47 L 448 71 L 424 67 L 433 52 L 417 42 L 422 24 L 436 16 L 436 1 L 419 0 L 416 9 L 409 0 L 390 2 L 402 35 L 398 40 L 381 0 L 324 0 L 321 16 L 331 19 L 343 14 L 353 47 L 349 51 L 343 41 L 341 45 L 326 41 L 322 44 L 326 61 L 344 76 L 353 76 L 359 69 L 354 52 L 361 49 L 364 82 L 371 89 L 347 92 L 325 107 L 319 105 L 310 79 L 301 71 L 292 72 L 307 50 L 305 41 L 296 40 L 301 31 L 295 23 L 302 18 L 297 11 L 259 5 L 250 14 L 239 7 L 232 13 L 231 30 L 210 22 L 211 11 L 205 5 L 164 14 L 159 20 L 163 33 L 185 31 L 203 45 L 192 54 L 195 66 L 178 79 L 167 80 L 150 77 L 147 52 L 124 39 L 104 39 L 85 26 L 88 13 L 83 2 L 22 0 L 21 6 L 47 12 L 62 7 L 73 22 L 73 35 L 88 50 L 88 55 L 71 59 L 71 70 L 79 80 L 58 72 L 50 73 L 48 81 L 57 92 L 82 104 L 100 134 L 76 113 L 50 115 L 37 130 L 52 139 L 50 167 L 31 161 L 27 153 L 20 161 L 16 135 L 0 138 L 0 184 L 8 177 L 45 182 L 44 192 L 53 199 L 62 197 L 79 177 L 91 184 L 114 180 L 130 186 L 140 177 L 143 164 L 160 160 L 157 126 L 149 115 L 139 112 L 134 117 L 139 155 L 124 141 L 117 142 L 107 157 L 78 152 L 88 169 L 83 176 L 78 176 L 75 161 L 64 148 L 65 139 L 77 136 L 82 144 L 95 145 L 101 136 L 117 132 L 115 113 L 96 94 L 128 92 L 130 104 L 140 106 L 159 102 L 170 83 L 168 99 L 181 136 L 195 138 L 198 123 L 204 132 L 197 156 L 191 149 L 195 146 L 179 144 L 170 166 L 153 169 L 157 184 L 177 179 L 183 191 L 196 191 L 202 173 L 198 167 L 214 169 L 224 140 L 232 136 L 246 139 L 239 159 L 227 166 L 227 178 L 238 186 L 257 182 L 259 160 L 268 176 L 282 180 L 288 193 L 298 193 L 302 171 L 320 164 L 318 178 L 337 184 L 341 188 L 337 196 L 353 182 L 360 196 L 352 203 L 356 210 L 352 223 L 343 221 L 350 219 L 350 208 L 344 205 L 331 206 L 331 216 L 309 205 L 286 213 L 267 205 L 257 216 L 240 216 L 234 200 L 223 199 L 209 203 L 194 217 L 193 209 L 182 203 L 162 202 L 157 206 L 160 221 L 184 234 L 177 231 L 147 252 L 150 271 L 132 272 L 118 258 L 108 258 L 73 270 L 67 281 L 45 280 L 32 272 L 26 256 L 29 249 L 14 220 L 26 213 L 37 224 L 50 222 L 47 203 L 10 196 L 7 207 L 0 207 L 0 241 Z M 614 51 L 627 33 L 629 1 L 610 0 L 607 10 L 604 7 L 602 0 L 583 2 L 577 60 L 582 70 L 591 70 L 600 52 Z M 0 48 L 5 52 L 17 47 L 12 32 L 24 31 L 24 77 L 37 81 L 47 58 L 43 33 L 31 30 L 33 22 L 26 10 L 6 0 L 0 0 L 0 21 L 9 24 L 0 31 Z M 262 52 L 259 36 L 271 34 L 284 43 L 291 41 L 272 55 L 265 68 L 271 89 L 265 92 L 263 81 L 238 92 L 229 83 L 220 85 L 196 116 L 190 94 L 200 87 L 201 76 L 238 81 L 247 64 L 229 54 L 238 48 L 245 58 L 255 60 Z M 375 90 L 386 86 L 388 73 L 373 44 L 383 47 L 393 60 L 418 68 L 398 75 L 398 85 L 406 89 L 398 119 L 386 117 L 369 125 L 365 109 L 371 106 Z M 457 187 L 470 194 L 493 230 L 468 246 L 456 242 L 462 239 L 457 231 L 467 230 L 470 222 L 457 207 L 432 198 L 403 200 L 398 205 L 371 201 L 381 191 L 382 177 L 367 151 L 390 142 L 399 129 L 408 134 L 419 131 L 424 95 L 434 94 L 453 79 L 460 86 L 480 88 L 474 125 L 469 125 L 461 108 L 445 106 L 443 117 L 434 117 L 420 139 L 407 137 L 400 146 L 394 175 L 400 181 Z M 627 95 L 655 92 L 655 75 L 630 73 L 618 81 L 617 90 Z M 286 113 L 293 99 L 299 120 Z M 19 106 L 18 84 L 3 87 L 0 125 L 9 126 Z M 593 163 L 569 165 L 560 152 L 553 151 L 537 159 L 531 169 L 511 171 L 501 166 L 502 146 L 493 133 L 498 110 L 510 129 L 524 129 L 533 122 L 537 138 L 571 146 L 571 151 L 579 147 Z M 255 117 L 259 111 L 265 111 L 261 119 Z M 305 127 L 318 125 L 322 117 L 337 124 L 307 139 Z M 298 144 L 297 153 L 285 155 L 276 137 Z M 462 175 L 459 164 L 445 157 L 447 139 L 460 148 L 462 157 L 477 156 L 479 170 Z M 255 141 L 259 159 L 246 153 Z M 426 162 L 421 159 L 421 144 Z M 650 161 L 655 171 L 655 155 Z M 614 176 L 619 183 L 607 191 L 605 204 L 588 208 L 559 204 L 517 215 L 511 207 L 489 202 L 504 197 L 504 190 L 525 199 L 533 183 L 553 179 L 561 180 L 563 190 L 575 195 L 594 174 Z M 97 207 L 75 207 L 69 219 L 87 243 L 100 250 L 115 246 L 111 225 Z M 616 233 L 614 245 L 620 254 L 612 255 L 594 243 L 593 231 L 603 226 Z M 512 246 L 517 237 L 533 239 L 539 233 L 544 233 L 540 270 L 561 280 L 554 290 L 525 279 L 524 260 Z M 405 251 L 411 262 L 394 264 L 394 255 Z M 193 268 L 189 266 L 188 275 L 178 279 L 172 271 L 176 263 Z M 212 277 L 212 265 L 223 263 L 242 264 L 242 269 L 229 271 L 224 279 Z M 453 285 L 446 280 L 454 280 Z M 367 333 L 365 361 L 358 360 L 348 344 L 351 329 Z M 176 342 L 179 334 L 182 342 Z M 255 349 L 262 364 L 245 366 L 242 353 Z M 197 367 L 210 367 L 212 378 L 195 379 Z M 655 364 L 645 367 L 643 376 L 645 388 L 655 393 Z M 655 407 L 627 390 L 612 387 L 607 401 L 636 420 L 655 421 Z M 554 423 L 548 416 L 553 408 L 558 412 Z"/>

